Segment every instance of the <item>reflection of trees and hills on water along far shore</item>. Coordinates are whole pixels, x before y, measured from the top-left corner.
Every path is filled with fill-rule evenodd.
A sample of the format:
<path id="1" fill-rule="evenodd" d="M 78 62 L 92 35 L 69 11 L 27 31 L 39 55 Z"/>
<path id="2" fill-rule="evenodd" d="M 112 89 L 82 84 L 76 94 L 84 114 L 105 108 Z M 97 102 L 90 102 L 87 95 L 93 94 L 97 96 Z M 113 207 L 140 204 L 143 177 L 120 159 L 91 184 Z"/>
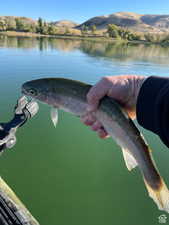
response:
<path id="1" fill-rule="evenodd" d="M 0 47 L 60 50 L 64 52 L 81 50 L 92 57 L 120 59 L 121 61 L 144 61 L 168 64 L 169 47 L 160 45 L 125 44 L 120 42 L 98 42 L 55 38 L 0 36 Z"/>

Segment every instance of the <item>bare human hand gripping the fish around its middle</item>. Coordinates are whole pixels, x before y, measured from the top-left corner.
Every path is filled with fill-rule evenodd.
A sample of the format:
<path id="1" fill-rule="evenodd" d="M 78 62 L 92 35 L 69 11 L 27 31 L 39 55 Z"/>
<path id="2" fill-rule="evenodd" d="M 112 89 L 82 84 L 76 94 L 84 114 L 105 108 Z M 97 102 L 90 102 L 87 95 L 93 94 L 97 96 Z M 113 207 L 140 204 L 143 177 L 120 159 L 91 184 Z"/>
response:
<path id="1" fill-rule="evenodd" d="M 81 118 L 81 121 L 87 126 L 91 126 L 91 129 L 96 131 L 100 138 L 108 137 L 108 133 L 93 114 L 97 110 L 99 101 L 105 95 L 116 99 L 128 115 L 134 119 L 136 117 L 137 97 L 144 80 L 144 76 L 137 75 L 103 77 L 89 90 L 87 94 L 88 112 Z"/>

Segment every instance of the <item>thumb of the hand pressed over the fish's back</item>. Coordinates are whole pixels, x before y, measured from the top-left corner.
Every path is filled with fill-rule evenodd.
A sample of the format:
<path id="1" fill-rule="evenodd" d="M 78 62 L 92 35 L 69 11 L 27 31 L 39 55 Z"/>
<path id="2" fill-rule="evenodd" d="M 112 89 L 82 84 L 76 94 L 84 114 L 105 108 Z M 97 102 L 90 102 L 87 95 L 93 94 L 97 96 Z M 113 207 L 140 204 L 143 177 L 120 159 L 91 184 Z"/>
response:
<path id="1" fill-rule="evenodd" d="M 99 100 L 102 99 L 108 92 L 109 84 L 106 79 L 103 78 L 97 84 L 95 84 L 87 94 L 87 101 L 89 103 L 89 111 L 97 109 Z"/>

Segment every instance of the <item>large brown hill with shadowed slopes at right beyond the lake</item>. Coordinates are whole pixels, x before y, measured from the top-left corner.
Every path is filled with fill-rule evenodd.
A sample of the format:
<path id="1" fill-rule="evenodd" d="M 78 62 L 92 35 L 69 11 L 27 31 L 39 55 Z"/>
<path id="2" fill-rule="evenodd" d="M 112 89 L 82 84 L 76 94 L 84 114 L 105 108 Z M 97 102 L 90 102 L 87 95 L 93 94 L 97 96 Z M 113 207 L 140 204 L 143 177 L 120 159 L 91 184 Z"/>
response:
<path id="1" fill-rule="evenodd" d="M 76 28 L 82 29 L 84 25 L 88 27 L 95 25 L 97 29 L 106 29 L 108 24 L 115 24 L 141 32 L 169 32 L 169 15 L 141 15 L 132 12 L 118 12 L 93 17 Z"/>

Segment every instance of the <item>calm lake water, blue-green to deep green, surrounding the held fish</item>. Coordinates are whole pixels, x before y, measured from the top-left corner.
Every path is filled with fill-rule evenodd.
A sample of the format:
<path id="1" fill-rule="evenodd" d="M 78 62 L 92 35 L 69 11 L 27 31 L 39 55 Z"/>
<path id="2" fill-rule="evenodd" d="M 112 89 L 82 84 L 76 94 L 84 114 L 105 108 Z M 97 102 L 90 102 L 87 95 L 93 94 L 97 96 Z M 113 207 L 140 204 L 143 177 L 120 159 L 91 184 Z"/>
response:
<path id="1" fill-rule="evenodd" d="M 65 77 L 94 84 L 104 75 L 169 76 L 169 48 L 54 38 L 0 36 L 0 122 L 12 117 L 23 82 Z M 150 90 L 151 91 L 151 90 Z M 78 118 L 50 108 L 20 128 L 1 156 L 1 176 L 41 225 L 159 224 L 138 169 L 128 172 L 120 148 L 100 140 Z M 140 128 L 169 186 L 169 150 Z M 169 218 L 168 223 L 169 224 Z"/>

